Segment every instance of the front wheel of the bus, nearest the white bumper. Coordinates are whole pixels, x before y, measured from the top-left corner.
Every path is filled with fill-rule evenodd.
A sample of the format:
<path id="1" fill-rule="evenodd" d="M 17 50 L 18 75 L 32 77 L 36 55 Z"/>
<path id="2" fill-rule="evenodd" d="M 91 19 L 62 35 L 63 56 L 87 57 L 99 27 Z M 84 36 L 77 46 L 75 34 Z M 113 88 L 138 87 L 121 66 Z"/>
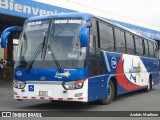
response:
<path id="1" fill-rule="evenodd" d="M 111 80 L 108 85 L 108 96 L 104 99 L 101 99 L 99 102 L 102 105 L 107 105 L 113 101 L 114 97 L 115 97 L 115 88 L 114 88 L 114 84 Z"/>

